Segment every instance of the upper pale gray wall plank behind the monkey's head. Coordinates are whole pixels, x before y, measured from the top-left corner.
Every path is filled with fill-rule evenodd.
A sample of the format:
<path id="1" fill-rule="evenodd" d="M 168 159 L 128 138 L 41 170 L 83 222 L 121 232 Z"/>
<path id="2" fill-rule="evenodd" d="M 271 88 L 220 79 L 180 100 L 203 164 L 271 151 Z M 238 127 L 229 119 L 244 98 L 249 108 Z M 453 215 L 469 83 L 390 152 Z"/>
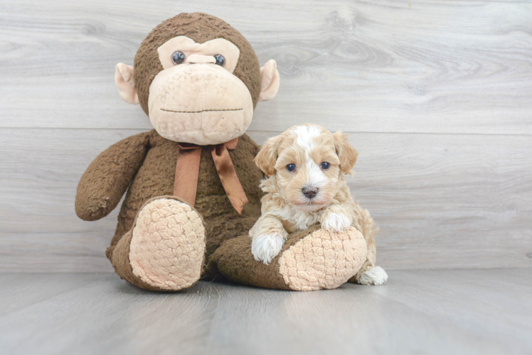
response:
<path id="1" fill-rule="evenodd" d="M 532 134 L 532 3 L 488 1 L 34 1 L 0 4 L 1 127 L 147 129 L 113 84 L 169 16 L 238 28 L 277 99 L 252 131 Z"/>

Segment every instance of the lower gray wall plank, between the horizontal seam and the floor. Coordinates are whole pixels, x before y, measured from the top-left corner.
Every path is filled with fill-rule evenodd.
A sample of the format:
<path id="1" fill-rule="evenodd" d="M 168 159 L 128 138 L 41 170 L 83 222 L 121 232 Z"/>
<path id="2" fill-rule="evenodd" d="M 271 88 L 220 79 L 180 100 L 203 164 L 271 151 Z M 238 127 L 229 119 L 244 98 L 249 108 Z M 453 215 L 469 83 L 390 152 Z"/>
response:
<path id="1" fill-rule="evenodd" d="M 0 269 L 112 271 L 117 210 L 75 216 L 81 174 L 135 130 L 0 129 Z M 278 132 L 250 132 L 261 142 Z M 387 269 L 530 267 L 528 136 L 351 133 L 354 197 L 381 226 Z"/>

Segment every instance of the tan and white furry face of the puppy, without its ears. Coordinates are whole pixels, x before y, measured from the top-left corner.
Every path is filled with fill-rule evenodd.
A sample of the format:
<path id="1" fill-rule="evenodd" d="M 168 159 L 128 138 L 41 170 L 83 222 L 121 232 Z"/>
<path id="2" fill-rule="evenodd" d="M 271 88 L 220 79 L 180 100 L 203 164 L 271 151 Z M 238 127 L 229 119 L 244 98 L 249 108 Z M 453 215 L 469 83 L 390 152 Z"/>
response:
<path id="1" fill-rule="evenodd" d="M 329 163 L 328 168 L 322 163 Z M 290 164 L 295 165 L 293 171 L 287 170 Z M 280 143 L 275 170 L 280 193 L 294 207 L 325 207 L 336 195 L 341 176 L 334 137 L 320 126 L 295 126 Z M 306 195 L 304 189 L 314 195 Z"/>

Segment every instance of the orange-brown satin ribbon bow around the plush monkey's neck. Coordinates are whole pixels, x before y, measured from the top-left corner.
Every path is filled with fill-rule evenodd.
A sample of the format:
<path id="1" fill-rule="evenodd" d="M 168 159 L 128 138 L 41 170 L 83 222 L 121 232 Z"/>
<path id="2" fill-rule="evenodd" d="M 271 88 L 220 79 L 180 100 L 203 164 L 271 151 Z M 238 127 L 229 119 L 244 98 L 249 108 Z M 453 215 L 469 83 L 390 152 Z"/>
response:
<path id="1" fill-rule="evenodd" d="M 222 182 L 223 189 L 229 197 L 229 201 L 242 214 L 244 205 L 248 203 L 244 189 L 236 175 L 235 166 L 229 155 L 228 149 L 233 151 L 238 144 L 238 138 L 211 148 L 214 165 Z M 174 180 L 174 196 L 194 206 L 196 192 L 198 190 L 199 164 L 201 159 L 201 146 L 190 143 L 179 143 L 181 151 L 177 157 L 176 179 Z"/>

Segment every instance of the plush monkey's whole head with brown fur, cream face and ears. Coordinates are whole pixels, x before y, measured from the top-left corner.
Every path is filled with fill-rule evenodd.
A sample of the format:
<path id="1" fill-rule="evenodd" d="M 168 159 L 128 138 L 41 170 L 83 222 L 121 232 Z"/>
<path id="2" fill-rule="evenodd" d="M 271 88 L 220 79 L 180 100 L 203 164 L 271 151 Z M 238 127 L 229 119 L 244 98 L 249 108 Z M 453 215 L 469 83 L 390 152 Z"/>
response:
<path id="1" fill-rule="evenodd" d="M 248 40 L 206 13 L 181 13 L 154 28 L 134 67 L 117 64 L 120 97 L 140 104 L 171 141 L 219 144 L 241 136 L 259 101 L 279 89 L 275 60 L 260 67 Z"/>

